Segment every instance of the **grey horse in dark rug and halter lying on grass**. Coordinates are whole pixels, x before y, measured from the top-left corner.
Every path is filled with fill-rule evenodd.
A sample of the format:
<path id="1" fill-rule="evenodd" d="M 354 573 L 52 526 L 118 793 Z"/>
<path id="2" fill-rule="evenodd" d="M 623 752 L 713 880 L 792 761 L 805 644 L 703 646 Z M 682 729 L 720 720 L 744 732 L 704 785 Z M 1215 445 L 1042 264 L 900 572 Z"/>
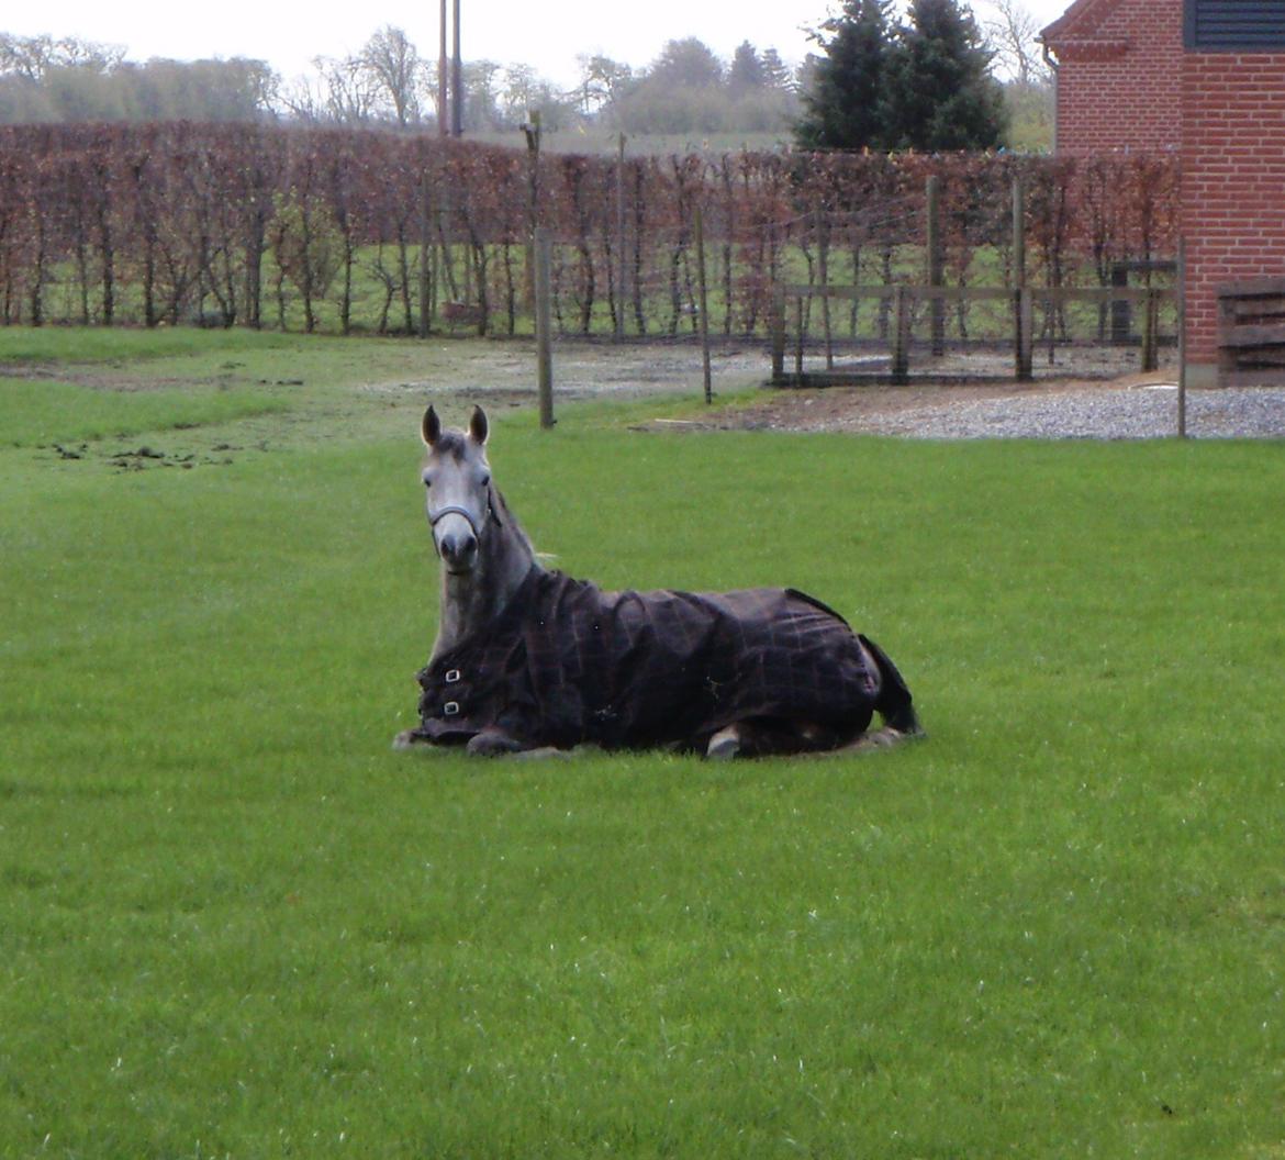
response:
<path id="1" fill-rule="evenodd" d="M 441 564 L 420 723 L 394 749 L 470 755 L 669 749 L 712 759 L 921 735 L 887 654 L 794 588 L 607 592 L 547 569 L 491 477 L 490 424 L 420 424 Z M 870 730 L 878 713 L 883 727 Z"/>

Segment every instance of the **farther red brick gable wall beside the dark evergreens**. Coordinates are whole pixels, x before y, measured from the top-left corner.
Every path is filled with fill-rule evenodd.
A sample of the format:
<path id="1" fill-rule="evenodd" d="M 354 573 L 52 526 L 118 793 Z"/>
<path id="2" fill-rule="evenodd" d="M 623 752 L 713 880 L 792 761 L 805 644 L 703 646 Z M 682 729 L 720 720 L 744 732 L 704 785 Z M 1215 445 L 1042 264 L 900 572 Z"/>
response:
<path id="1" fill-rule="evenodd" d="M 1121 0 L 1101 8 L 1099 19 L 1050 44 L 1059 62 L 1058 152 L 1176 149 L 1182 0 Z"/>

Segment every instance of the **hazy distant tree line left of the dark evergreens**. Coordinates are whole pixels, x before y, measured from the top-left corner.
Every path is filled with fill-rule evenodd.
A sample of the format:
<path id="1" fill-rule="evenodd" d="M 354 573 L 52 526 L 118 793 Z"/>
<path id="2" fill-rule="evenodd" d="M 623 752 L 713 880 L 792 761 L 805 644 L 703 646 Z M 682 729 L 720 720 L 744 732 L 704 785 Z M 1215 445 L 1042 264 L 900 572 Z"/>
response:
<path id="1" fill-rule="evenodd" d="M 315 126 L 437 128 L 438 62 L 386 26 L 348 57 L 317 57 L 283 77 L 266 62 L 126 59 L 120 46 L 0 33 L 0 123 L 278 121 Z M 466 60 L 466 132 L 518 128 L 538 112 L 556 131 L 596 123 L 628 134 L 785 130 L 798 71 L 775 49 L 743 42 L 727 63 L 700 40 L 671 40 L 645 68 L 580 59 L 571 89 L 527 64 Z"/>

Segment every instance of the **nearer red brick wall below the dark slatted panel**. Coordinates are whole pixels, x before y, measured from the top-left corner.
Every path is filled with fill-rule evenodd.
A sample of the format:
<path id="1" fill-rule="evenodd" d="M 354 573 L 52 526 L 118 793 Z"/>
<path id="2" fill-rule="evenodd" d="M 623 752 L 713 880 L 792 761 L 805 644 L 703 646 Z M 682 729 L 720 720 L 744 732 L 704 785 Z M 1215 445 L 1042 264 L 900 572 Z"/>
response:
<path id="1" fill-rule="evenodd" d="M 1285 276 L 1285 53 L 1187 54 L 1182 234 L 1187 361 L 1212 366 L 1218 357 L 1214 288 Z"/>

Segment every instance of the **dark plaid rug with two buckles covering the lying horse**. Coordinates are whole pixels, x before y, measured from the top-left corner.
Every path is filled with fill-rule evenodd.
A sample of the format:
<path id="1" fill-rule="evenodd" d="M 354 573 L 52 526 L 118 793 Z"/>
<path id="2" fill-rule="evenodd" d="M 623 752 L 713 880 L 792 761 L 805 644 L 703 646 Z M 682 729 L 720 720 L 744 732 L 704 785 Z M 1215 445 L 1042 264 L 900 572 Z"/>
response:
<path id="1" fill-rule="evenodd" d="M 414 735 L 437 744 L 496 726 L 532 745 L 703 749 L 753 721 L 794 749 L 806 722 L 807 748 L 829 749 L 911 703 L 878 645 L 792 588 L 604 592 L 540 567 L 419 683 Z"/>

